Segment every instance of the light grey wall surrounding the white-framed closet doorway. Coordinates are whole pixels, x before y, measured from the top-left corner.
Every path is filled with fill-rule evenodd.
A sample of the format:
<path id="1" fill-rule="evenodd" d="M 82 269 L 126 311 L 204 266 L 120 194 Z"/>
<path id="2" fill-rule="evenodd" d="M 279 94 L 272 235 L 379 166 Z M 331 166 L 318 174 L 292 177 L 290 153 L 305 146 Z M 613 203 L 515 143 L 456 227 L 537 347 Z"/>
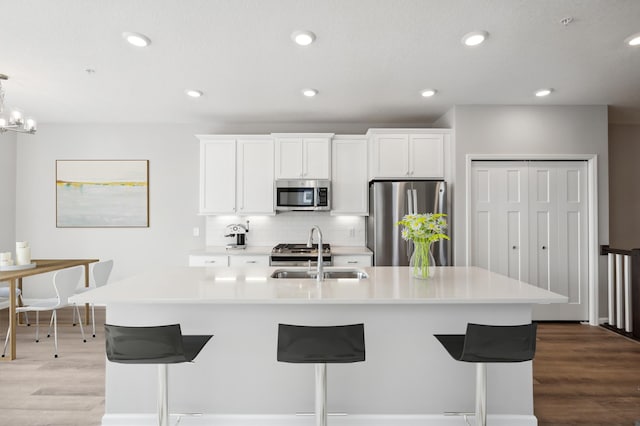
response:
<path id="1" fill-rule="evenodd" d="M 598 244 L 609 241 L 608 119 L 598 106 L 456 106 L 454 262 L 464 265 L 466 249 L 467 154 L 596 154 L 598 156 Z M 600 259 L 600 282 L 606 261 Z M 606 287 L 600 286 L 600 312 Z"/>

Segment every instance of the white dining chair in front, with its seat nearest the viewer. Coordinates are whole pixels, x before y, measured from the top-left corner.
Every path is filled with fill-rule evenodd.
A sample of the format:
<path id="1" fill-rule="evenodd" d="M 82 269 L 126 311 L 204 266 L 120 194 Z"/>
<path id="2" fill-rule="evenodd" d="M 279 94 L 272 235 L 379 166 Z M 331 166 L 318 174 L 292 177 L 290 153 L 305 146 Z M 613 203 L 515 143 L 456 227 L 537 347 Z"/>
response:
<path id="1" fill-rule="evenodd" d="M 45 299 L 36 302 L 28 306 L 20 306 L 16 308 L 16 313 L 21 312 L 35 312 L 36 313 L 36 342 L 39 341 L 40 332 L 40 312 L 52 311 L 51 320 L 49 321 L 49 330 L 53 326 L 53 341 L 55 346 L 54 358 L 58 358 L 58 318 L 57 312 L 60 308 L 72 306 L 74 310 L 78 310 L 78 306 L 69 302 L 69 297 L 73 296 L 76 286 L 80 281 L 80 277 L 84 272 L 83 266 L 74 266 L 73 268 L 61 269 L 53 275 L 53 288 L 56 292 L 56 297 L 52 299 Z M 78 312 L 78 316 L 80 313 Z M 2 357 L 7 352 L 7 345 L 9 343 L 9 333 L 11 329 L 7 329 L 7 337 L 4 342 L 4 350 L 2 351 Z M 87 339 L 84 336 L 84 329 L 82 323 L 80 323 L 80 333 L 82 333 L 82 340 L 84 342 Z M 47 337 L 50 336 L 50 333 Z"/>

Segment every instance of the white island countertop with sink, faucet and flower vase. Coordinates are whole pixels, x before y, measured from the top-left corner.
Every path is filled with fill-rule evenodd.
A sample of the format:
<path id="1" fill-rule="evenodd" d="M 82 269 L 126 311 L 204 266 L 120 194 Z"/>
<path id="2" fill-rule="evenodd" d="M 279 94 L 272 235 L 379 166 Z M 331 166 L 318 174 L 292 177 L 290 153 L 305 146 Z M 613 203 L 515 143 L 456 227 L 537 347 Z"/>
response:
<path id="1" fill-rule="evenodd" d="M 73 296 L 76 303 L 168 304 L 538 304 L 567 297 L 477 267 L 361 268 L 366 279 L 276 279 L 276 267 L 158 267 Z M 306 268 L 287 268 L 300 269 Z M 348 268 L 325 267 L 325 271 Z"/>

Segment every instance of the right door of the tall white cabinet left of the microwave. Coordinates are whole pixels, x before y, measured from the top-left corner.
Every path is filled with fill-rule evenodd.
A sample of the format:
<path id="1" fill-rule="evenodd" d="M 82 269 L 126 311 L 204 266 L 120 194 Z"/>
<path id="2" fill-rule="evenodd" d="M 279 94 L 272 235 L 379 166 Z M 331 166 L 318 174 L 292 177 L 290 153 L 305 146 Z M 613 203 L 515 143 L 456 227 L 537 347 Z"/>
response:
<path id="1" fill-rule="evenodd" d="M 238 214 L 274 214 L 273 141 L 238 140 Z"/>

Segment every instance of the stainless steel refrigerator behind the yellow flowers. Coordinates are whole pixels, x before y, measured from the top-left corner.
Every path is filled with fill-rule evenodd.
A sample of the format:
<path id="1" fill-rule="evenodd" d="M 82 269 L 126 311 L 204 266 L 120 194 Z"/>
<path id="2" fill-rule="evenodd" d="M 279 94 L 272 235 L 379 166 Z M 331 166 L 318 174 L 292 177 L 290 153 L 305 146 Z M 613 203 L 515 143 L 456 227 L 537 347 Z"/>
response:
<path id="1" fill-rule="evenodd" d="M 373 251 L 375 266 L 409 265 L 413 243 L 402 239 L 402 229 L 396 225 L 409 213 L 448 214 L 446 183 L 433 180 L 369 182 L 367 247 Z M 450 235 L 449 216 L 447 224 L 447 235 Z M 450 241 L 438 241 L 431 250 L 437 266 L 451 265 Z"/>

